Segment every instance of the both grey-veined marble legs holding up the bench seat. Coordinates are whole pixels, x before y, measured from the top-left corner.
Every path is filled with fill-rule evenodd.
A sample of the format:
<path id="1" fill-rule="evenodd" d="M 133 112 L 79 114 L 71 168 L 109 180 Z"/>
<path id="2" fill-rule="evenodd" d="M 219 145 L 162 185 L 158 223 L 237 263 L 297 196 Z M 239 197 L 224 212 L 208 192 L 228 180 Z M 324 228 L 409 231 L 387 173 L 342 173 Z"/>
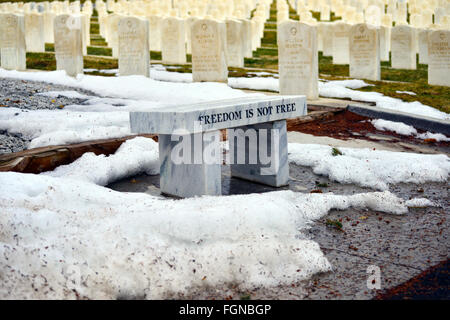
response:
<path id="1" fill-rule="evenodd" d="M 286 120 L 228 129 L 227 134 L 232 177 L 273 187 L 288 184 Z M 221 195 L 222 155 L 211 164 L 204 154 L 205 149 L 221 151 L 220 136 L 220 131 L 210 131 L 177 136 L 172 141 L 172 135 L 160 134 L 161 193 L 181 198 Z M 179 161 L 181 158 L 184 161 Z"/>

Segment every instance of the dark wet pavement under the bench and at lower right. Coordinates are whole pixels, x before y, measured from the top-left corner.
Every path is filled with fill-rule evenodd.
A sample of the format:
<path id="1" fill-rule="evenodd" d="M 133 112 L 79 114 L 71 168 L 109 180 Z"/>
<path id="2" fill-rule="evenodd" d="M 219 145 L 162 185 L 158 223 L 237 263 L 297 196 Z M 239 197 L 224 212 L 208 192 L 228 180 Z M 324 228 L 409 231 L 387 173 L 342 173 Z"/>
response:
<path id="1" fill-rule="evenodd" d="M 297 192 L 333 192 L 354 194 L 374 191 L 355 185 L 344 185 L 317 176 L 310 168 L 290 165 L 290 189 Z M 327 187 L 324 187 L 327 185 Z M 108 186 L 123 192 L 145 192 L 160 195 L 159 176 L 140 175 Z M 229 167 L 222 168 L 222 194 L 246 194 L 279 190 L 231 178 Z M 446 183 L 424 185 L 398 184 L 391 192 L 403 199 L 426 197 L 439 207 L 411 208 L 403 216 L 365 209 L 332 210 L 306 231 L 307 237 L 319 243 L 333 265 L 333 271 L 317 274 L 290 287 L 260 288 L 240 292 L 232 284 L 226 288 L 202 288 L 192 299 L 371 299 L 449 258 L 449 186 Z M 342 224 L 338 229 L 336 222 Z M 367 287 L 367 268 L 381 271 L 381 290 Z"/>

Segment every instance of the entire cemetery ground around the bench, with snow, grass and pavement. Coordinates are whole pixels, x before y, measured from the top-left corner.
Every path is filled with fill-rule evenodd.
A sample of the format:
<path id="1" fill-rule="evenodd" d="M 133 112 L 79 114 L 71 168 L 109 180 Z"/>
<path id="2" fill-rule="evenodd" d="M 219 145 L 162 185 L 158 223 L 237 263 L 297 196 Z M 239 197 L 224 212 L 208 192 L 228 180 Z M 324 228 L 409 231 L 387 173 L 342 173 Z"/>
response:
<path id="1" fill-rule="evenodd" d="M 448 137 L 345 109 L 448 121 L 450 92 L 426 83 L 425 65 L 382 63 L 382 81 L 360 81 L 319 55 L 321 99 L 288 121 L 289 186 L 222 166 L 221 197 L 160 194 L 157 139 L 129 137 L 128 112 L 276 94 L 274 28 L 269 19 L 263 47 L 230 68 L 231 88 L 192 83 L 189 56 L 163 65 L 159 52 L 151 79 L 115 77 L 95 16 L 86 76 L 42 72 L 55 70 L 50 44 L 27 53 L 29 72 L 0 70 L 0 296 L 448 299 Z M 380 290 L 368 288 L 369 266 Z"/>

